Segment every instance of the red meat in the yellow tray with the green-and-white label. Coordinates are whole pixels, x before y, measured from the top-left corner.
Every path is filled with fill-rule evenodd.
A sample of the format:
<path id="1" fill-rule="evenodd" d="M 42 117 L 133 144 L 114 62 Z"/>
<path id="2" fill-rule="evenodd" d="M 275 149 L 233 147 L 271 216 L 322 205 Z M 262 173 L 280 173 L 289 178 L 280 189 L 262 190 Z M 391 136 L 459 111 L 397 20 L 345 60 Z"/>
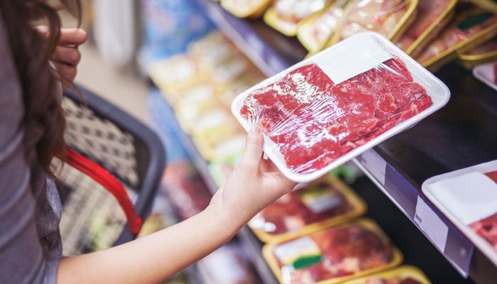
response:
<path id="1" fill-rule="evenodd" d="M 393 247 L 358 224 L 327 229 L 308 236 L 319 247 L 320 262 L 292 271 L 292 284 L 315 283 L 378 268 L 393 259 Z M 283 267 L 283 263 L 278 263 Z"/>

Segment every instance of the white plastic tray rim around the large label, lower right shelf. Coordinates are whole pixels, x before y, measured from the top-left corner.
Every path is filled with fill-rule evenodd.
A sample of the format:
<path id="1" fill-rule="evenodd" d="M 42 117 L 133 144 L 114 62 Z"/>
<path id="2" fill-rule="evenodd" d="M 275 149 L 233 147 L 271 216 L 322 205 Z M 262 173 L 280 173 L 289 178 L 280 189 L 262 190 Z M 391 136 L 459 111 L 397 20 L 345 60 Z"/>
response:
<path id="1" fill-rule="evenodd" d="M 425 180 L 425 182 L 422 183 L 421 189 L 422 192 L 428 197 L 428 199 L 435 204 L 435 206 L 440 209 L 440 211 L 447 216 L 447 218 L 455 225 L 457 226 L 457 229 L 459 229 L 465 236 L 467 236 L 473 244 L 480 249 L 481 252 L 483 252 L 488 259 L 490 259 L 494 265 L 497 266 L 497 252 L 493 250 L 492 246 L 488 244 L 488 242 L 483 239 L 481 236 L 476 234 L 473 229 L 471 229 L 469 226 L 461 222 L 452 212 L 447 208 L 440 200 L 435 197 L 435 195 L 432 194 L 430 191 L 430 186 L 434 184 L 435 182 L 439 182 L 441 180 L 445 180 L 447 178 L 454 178 L 459 175 L 464 175 L 466 173 L 472 173 L 472 172 L 479 172 L 479 173 L 489 173 L 491 171 L 497 170 L 497 160 L 493 160 L 488 163 L 483 163 L 480 165 L 475 165 L 473 167 L 469 168 L 464 168 L 461 170 L 455 170 L 454 172 L 450 173 L 444 173 L 442 175 L 436 175 L 435 177 L 429 178 Z M 471 188 L 469 187 L 469 190 Z M 497 211 L 497 208 L 496 208 Z"/>

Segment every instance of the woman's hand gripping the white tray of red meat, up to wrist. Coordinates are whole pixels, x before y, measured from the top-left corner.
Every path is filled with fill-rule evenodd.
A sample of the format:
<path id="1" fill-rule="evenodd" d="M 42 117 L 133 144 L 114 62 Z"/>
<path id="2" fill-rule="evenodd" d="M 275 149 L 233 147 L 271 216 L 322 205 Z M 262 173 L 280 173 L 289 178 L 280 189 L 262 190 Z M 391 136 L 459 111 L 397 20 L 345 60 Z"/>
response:
<path id="1" fill-rule="evenodd" d="M 296 182 L 288 180 L 273 165 L 263 160 L 263 135 L 254 126 L 247 137 L 246 150 L 239 165 L 212 198 L 209 207 L 228 214 L 238 222 L 236 229 L 249 222 L 262 209 L 293 190 Z"/>

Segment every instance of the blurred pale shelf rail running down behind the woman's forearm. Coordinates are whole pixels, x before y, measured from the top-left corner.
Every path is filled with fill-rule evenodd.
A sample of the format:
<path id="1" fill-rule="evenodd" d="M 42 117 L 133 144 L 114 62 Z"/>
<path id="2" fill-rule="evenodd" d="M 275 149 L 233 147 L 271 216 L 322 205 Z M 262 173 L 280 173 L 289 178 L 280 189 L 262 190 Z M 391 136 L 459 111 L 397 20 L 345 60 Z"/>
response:
<path id="1" fill-rule="evenodd" d="M 164 104 L 164 106 L 165 107 L 163 108 L 163 111 L 170 114 L 168 115 L 168 117 L 171 118 L 170 123 L 176 124 L 175 126 L 178 126 L 179 128 L 178 121 L 175 120 L 175 116 L 173 114 L 173 109 L 169 106 L 169 104 L 167 104 L 167 102 Z M 182 146 L 187 151 L 187 155 L 189 156 L 190 160 L 204 179 L 204 182 L 209 188 L 209 191 L 214 195 L 214 193 L 217 192 L 218 187 L 209 173 L 207 161 L 202 158 L 202 155 L 200 155 L 190 136 L 188 136 L 183 131 L 179 131 L 178 137 L 180 138 Z M 249 229 L 248 226 L 245 226 L 243 229 L 241 229 L 237 236 L 239 238 L 241 246 L 244 248 L 247 256 L 249 256 L 251 263 L 253 264 L 254 268 L 256 268 L 258 275 L 260 276 L 261 280 L 263 280 L 263 283 L 277 284 L 278 280 L 276 280 L 275 276 L 271 272 L 271 269 L 268 267 L 266 261 L 264 261 L 262 257 L 261 251 L 263 244 L 261 243 L 261 241 L 256 238 L 256 236 L 252 233 L 251 229 Z"/>

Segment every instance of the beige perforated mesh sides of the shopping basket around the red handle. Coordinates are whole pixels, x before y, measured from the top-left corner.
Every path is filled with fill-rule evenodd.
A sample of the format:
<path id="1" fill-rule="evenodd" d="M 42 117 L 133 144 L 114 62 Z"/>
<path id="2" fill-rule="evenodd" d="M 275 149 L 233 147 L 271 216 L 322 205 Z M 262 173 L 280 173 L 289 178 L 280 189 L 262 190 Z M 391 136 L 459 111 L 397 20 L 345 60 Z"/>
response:
<path id="1" fill-rule="evenodd" d="M 67 146 L 121 180 L 134 202 L 139 180 L 133 136 L 67 97 L 62 106 L 67 119 Z M 119 202 L 102 185 L 70 165 L 62 166 L 58 178 L 63 185 L 62 253 L 73 256 L 111 247 L 126 225 Z"/>

